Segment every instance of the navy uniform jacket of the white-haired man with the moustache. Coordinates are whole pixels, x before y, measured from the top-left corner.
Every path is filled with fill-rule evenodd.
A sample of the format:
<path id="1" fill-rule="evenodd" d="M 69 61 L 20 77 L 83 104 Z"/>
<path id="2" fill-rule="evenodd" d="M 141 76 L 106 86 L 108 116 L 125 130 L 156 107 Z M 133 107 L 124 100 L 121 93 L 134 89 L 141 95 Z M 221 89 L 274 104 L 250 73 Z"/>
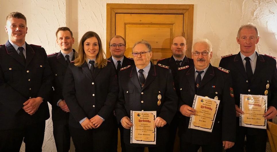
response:
<path id="1" fill-rule="evenodd" d="M 230 93 L 231 77 L 216 67 L 209 65 L 198 92 L 195 92 L 195 69 L 190 66 L 184 70 L 178 71 L 180 88 L 180 101 L 178 109 L 184 104 L 192 107 L 194 95 L 215 96 L 220 100 L 219 108 L 216 114 L 215 123 L 212 132 L 188 129 L 190 117 L 182 115 L 179 124 L 179 135 L 184 141 L 199 144 L 210 145 L 212 143 L 222 143 L 222 141 L 235 142 L 236 112 L 235 101 Z"/>

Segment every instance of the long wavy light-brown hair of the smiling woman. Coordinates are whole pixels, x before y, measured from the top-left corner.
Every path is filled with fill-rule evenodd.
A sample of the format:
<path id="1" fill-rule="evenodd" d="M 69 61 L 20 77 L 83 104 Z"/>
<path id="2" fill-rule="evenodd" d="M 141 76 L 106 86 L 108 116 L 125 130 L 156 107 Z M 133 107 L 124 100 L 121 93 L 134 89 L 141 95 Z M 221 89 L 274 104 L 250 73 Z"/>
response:
<path id="1" fill-rule="evenodd" d="M 98 45 L 99 45 L 99 52 L 96 56 L 96 60 L 95 60 L 95 65 L 98 68 L 104 68 L 107 66 L 107 60 L 104 58 L 104 56 L 106 56 L 103 48 L 102 48 L 102 42 L 101 39 L 99 37 L 99 35 L 93 31 L 88 31 L 86 32 L 83 37 L 81 38 L 80 42 L 79 42 L 79 47 L 78 47 L 78 53 L 75 54 L 75 66 L 81 66 L 85 63 L 86 60 L 86 54 L 85 54 L 85 50 L 84 50 L 84 42 L 85 40 L 87 40 L 88 38 L 91 37 L 96 37 L 96 39 L 98 40 Z"/>

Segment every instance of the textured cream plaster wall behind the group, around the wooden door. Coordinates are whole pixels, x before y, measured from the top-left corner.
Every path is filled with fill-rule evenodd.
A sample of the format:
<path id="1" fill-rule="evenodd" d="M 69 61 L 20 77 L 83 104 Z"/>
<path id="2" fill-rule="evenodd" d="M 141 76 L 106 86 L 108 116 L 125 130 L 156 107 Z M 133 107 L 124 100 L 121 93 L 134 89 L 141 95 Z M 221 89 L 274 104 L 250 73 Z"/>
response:
<path id="1" fill-rule="evenodd" d="M 76 49 L 82 35 L 89 30 L 98 33 L 106 44 L 106 3 L 194 4 L 193 38 L 208 38 L 212 42 L 214 66 L 218 66 L 221 56 L 239 52 L 235 39 L 237 30 L 248 22 L 254 23 L 260 31 L 257 51 L 277 56 L 277 4 L 274 0 L 0 0 L 0 44 L 8 39 L 5 19 L 12 11 L 27 17 L 26 42 L 43 46 L 47 54 L 59 51 L 55 32 L 61 26 L 73 31 Z M 56 151 L 51 119 L 46 124 L 43 151 Z"/>

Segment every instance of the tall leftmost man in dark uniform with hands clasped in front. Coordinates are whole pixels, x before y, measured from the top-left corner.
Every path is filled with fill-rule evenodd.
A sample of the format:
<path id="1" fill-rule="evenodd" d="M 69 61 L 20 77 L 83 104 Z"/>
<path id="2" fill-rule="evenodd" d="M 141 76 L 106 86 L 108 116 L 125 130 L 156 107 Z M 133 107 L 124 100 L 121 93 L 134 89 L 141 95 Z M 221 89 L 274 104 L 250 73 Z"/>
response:
<path id="1" fill-rule="evenodd" d="M 25 42 L 26 17 L 9 13 L 9 40 L 0 46 L 0 151 L 42 151 L 52 72 L 41 46 Z"/>

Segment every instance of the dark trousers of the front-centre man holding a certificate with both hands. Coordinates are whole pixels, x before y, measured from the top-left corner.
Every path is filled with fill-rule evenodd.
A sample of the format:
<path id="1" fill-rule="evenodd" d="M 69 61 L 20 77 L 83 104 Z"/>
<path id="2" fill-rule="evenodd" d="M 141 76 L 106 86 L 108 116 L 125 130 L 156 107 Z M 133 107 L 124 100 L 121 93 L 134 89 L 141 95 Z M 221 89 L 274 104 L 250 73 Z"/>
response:
<path id="1" fill-rule="evenodd" d="M 133 147 L 125 144 L 127 152 L 143 152 L 144 147 Z M 166 145 L 159 145 L 157 147 L 148 147 L 149 152 L 167 152 Z"/>

